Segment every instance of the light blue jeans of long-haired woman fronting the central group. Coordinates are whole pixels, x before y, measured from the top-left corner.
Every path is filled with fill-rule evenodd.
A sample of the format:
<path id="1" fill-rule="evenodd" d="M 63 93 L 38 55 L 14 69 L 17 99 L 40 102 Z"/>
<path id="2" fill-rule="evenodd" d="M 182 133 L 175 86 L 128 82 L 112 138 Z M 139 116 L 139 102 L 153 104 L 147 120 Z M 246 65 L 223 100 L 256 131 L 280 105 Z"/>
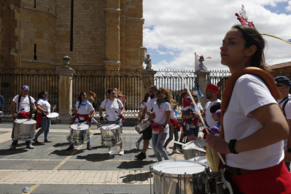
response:
<path id="1" fill-rule="evenodd" d="M 164 150 L 164 148 L 162 147 L 164 145 L 164 140 L 166 139 L 166 137 L 167 133 L 152 135 L 153 150 L 158 162 L 162 161 L 162 157 L 164 157 L 164 160 L 169 160 L 166 150 Z"/>

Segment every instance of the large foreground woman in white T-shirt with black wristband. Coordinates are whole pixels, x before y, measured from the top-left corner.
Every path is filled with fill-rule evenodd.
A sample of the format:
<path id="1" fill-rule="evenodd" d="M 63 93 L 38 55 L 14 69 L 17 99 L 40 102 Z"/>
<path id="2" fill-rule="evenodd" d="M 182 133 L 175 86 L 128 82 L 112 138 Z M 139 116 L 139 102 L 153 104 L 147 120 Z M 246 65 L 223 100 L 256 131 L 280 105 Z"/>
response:
<path id="1" fill-rule="evenodd" d="M 240 193 L 291 193 L 291 175 L 283 162 L 283 140 L 289 129 L 261 79 L 268 77 L 260 70 L 264 68 L 264 44 L 261 34 L 247 26 L 235 25 L 226 33 L 220 48 L 221 64 L 229 67 L 232 77 L 240 75 L 245 67 L 257 67 L 252 72 L 261 72 L 261 77 L 244 74 L 236 79 L 228 108 L 222 115 L 221 133 L 219 137 L 207 134 L 207 143 L 226 154 L 226 176 Z M 273 78 L 265 80 L 276 95 Z"/>

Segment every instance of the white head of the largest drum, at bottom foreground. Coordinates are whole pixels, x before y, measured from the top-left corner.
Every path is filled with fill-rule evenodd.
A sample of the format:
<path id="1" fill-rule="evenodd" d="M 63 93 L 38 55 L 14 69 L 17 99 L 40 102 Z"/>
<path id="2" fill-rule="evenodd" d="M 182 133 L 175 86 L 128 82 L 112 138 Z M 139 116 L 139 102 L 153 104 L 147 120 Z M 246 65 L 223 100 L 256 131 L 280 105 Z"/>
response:
<path id="1" fill-rule="evenodd" d="M 156 173 L 164 174 L 198 174 L 205 171 L 202 164 L 197 164 L 189 160 L 164 160 L 153 164 Z"/>

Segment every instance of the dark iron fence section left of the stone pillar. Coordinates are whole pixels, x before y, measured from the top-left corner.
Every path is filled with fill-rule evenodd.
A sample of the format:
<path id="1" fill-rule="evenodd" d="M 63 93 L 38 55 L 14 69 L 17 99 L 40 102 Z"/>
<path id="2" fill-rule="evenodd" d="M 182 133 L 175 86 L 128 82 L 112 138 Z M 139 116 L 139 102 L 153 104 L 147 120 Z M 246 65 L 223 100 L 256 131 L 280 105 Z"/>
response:
<path id="1" fill-rule="evenodd" d="M 58 112 L 58 73 L 52 68 L 0 67 L 0 95 L 4 97 L 4 115 L 11 115 L 10 104 L 21 93 L 21 86 L 30 87 L 29 95 L 36 101 L 41 91 L 48 91 L 48 102 Z"/>

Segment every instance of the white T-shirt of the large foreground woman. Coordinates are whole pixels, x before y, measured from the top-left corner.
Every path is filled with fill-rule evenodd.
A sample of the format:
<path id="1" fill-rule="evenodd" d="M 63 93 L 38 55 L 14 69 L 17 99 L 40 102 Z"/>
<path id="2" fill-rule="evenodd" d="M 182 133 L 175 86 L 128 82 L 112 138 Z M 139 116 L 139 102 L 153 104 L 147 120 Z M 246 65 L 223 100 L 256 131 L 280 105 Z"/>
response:
<path id="1" fill-rule="evenodd" d="M 226 142 L 240 140 L 254 134 L 262 125 L 252 115 L 261 106 L 276 103 L 268 87 L 254 75 L 237 79 L 233 94 L 224 115 Z M 242 169 L 265 169 L 279 164 L 284 159 L 283 141 L 239 154 L 227 154 L 226 164 Z"/>

